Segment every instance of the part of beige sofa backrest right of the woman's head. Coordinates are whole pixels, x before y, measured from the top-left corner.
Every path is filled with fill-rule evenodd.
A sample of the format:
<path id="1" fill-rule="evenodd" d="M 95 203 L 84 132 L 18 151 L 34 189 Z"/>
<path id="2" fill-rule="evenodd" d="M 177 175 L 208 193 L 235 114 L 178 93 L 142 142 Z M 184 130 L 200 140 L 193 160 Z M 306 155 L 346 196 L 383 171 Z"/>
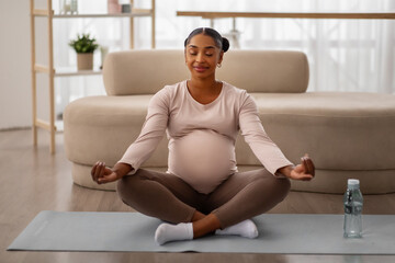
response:
<path id="1" fill-rule="evenodd" d="M 302 93 L 308 85 L 308 62 L 301 52 L 233 50 L 224 55 L 216 77 L 248 92 Z"/>

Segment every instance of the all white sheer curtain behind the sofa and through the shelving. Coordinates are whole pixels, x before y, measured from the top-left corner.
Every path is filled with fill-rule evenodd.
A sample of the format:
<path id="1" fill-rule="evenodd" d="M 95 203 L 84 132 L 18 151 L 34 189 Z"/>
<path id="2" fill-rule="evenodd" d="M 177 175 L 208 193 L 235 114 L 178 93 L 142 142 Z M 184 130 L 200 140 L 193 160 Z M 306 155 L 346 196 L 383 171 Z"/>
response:
<path id="1" fill-rule="evenodd" d="M 150 1 L 135 0 L 138 8 Z M 94 7 L 94 10 L 91 8 Z M 157 0 L 156 45 L 160 49 L 183 48 L 183 41 L 195 27 L 210 26 L 208 20 L 177 16 L 177 11 L 289 11 L 289 12 L 374 12 L 394 11 L 394 0 Z M 79 1 L 79 12 L 106 12 L 105 0 Z M 150 20 L 138 19 L 136 48 L 150 48 Z M 215 20 L 214 27 L 226 35 L 230 19 Z M 360 91 L 395 94 L 394 20 L 308 20 L 237 19 L 241 49 L 302 50 L 308 56 L 308 91 Z M 54 27 L 55 47 L 61 54 L 56 66 L 75 66 L 67 46 L 77 33 L 91 33 L 110 52 L 128 49 L 127 19 L 59 20 Z M 232 47 L 230 47 L 232 48 Z M 95 66 L 100 54 L 95 54 Z M 57 79 L 57 111 L 80 96 L 104 94 L 101 77 Z M 240 87 L 242 88 L 242 87 Z"/>

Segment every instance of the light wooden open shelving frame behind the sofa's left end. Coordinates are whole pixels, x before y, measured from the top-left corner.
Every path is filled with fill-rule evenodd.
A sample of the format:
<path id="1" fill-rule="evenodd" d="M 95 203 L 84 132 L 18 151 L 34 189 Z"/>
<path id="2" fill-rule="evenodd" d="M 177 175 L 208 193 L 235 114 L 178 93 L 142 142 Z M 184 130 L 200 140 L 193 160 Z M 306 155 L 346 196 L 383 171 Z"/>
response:
<path id="1" fill-rule="evenodd" d="M 129 19 L 129 46 L 134 48 L 134 19 L 150 18 L 151 19 L 151 47 L 155 48 L 155 0 L 151 0 L 151 9 L 132 9 L 131 13 L 115 13 L 115 14 L 55 14 L 53 10 L 53 0 L 47 0 L 47 9 L 36 9 L 35 1 L 30 0 L 31 5 L 31 50 L 32 50 L 32 105 L 33 105 L 33 144 L 37 145 L 37 128 L 43 128 L 49 132 L 49 151 L 55 153 L 55 133 L 57 125 L 55 122 L 55 81 L 56 77 L 72 77 L 72 76 L 92 76 L 101 75 L 101 70 L 77 70 L 77 68 L 59 68 L 54 67 L 54 42 L 53 42 L 53 21 L 55 19 L 105 19 L 105 18 L 128 18 Z M 133 0 L 131 5 L 134 7 Z M 48 65 L 40 65 L 36 62 L 36 31 L 35 19 L 47 19 L 47 34 L 48 34 Z M 48 75 L 49 79 L 49 119 L 44 121 L 37 117 L 37 83 L 36 75 Z"/>

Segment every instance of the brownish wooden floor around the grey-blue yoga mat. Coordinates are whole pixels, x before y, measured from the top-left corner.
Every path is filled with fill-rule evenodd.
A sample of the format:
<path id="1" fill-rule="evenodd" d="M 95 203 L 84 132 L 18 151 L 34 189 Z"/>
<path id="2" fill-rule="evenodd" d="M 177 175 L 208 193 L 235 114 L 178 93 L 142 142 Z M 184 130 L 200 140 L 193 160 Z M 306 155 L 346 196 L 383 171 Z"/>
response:
<path id="1" fill-rule="evenodd" d="M 48 135 L 0 132 L 0 262 L 395 262 L 390 255 L 293 255 L 234 253 L 93 253 L 8 252 L 8 245 L 41 210 L 132 211 L 114 192 L 93 191 L 72 184 L 63 135 L 56 136 L 57 153 L 48 150 Z M 395 214 L 395 194 L 365 195 L 365 214 Z M 342 214 L 342 196 L 291 192 L 270 213 Z M 111 226 L 109 226 L 111 227 Z M 395 237 L 394 237 L 395 240 Z M 319 240 L 317 240 L 319 242 Z"/>

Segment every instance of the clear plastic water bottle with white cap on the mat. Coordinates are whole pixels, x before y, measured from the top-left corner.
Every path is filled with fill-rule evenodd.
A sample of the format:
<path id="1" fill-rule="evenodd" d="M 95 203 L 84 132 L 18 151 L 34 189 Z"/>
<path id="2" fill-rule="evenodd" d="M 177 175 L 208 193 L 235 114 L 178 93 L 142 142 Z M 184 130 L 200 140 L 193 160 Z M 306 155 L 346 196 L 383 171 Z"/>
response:
<path id="1" fill-rule="evenodd" d="M 362 207 L 363 196 L 360 182 L 356 179 L 348 180 L 345 204 L 345 238 L 362 237 Z"/>

